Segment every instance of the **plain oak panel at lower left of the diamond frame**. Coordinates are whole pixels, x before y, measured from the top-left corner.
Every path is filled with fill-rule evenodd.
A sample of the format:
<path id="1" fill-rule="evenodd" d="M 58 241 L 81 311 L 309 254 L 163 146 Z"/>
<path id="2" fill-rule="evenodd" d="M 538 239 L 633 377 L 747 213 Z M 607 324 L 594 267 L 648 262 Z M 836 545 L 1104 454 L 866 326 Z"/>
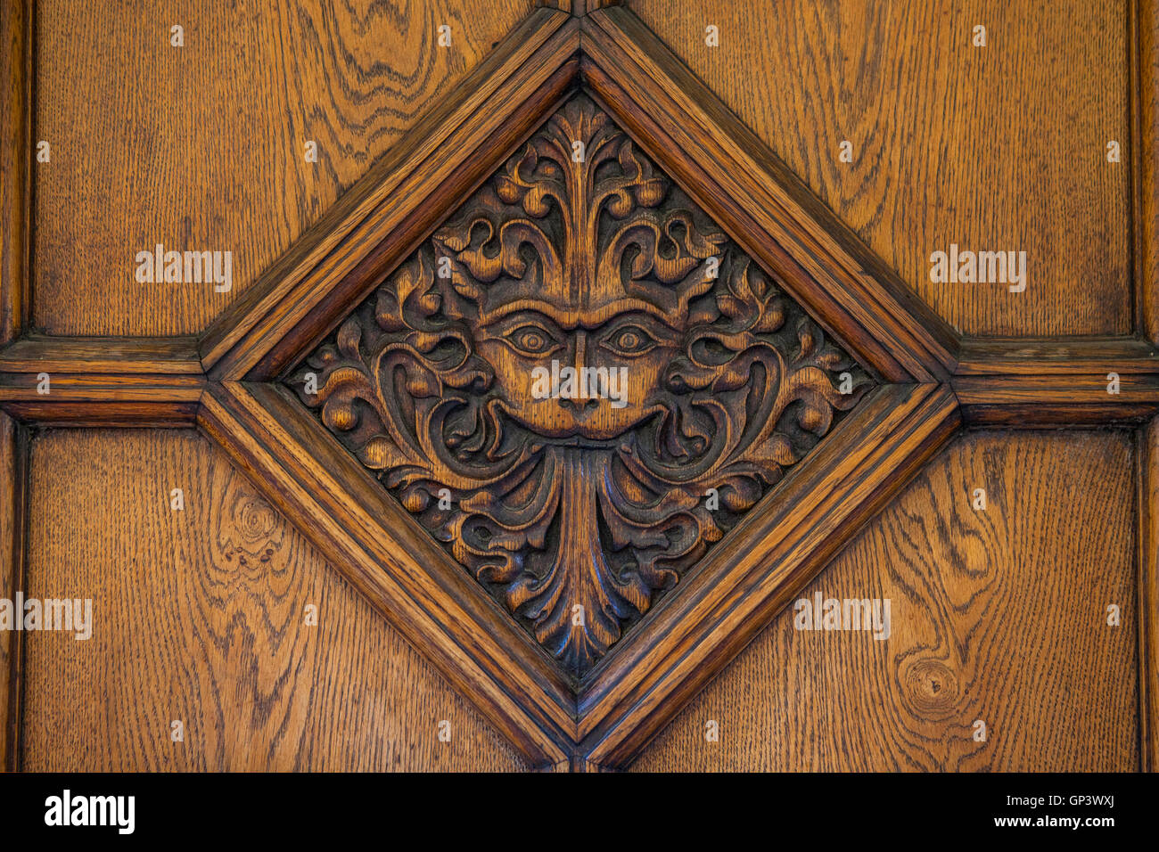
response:
<path id="1" fill-rule="evenodd" d="M 203 437 L 48 432 L 31 503 L 28 594 L 95 627 L 23 634 L 24 769 L 523 769 Z"/>

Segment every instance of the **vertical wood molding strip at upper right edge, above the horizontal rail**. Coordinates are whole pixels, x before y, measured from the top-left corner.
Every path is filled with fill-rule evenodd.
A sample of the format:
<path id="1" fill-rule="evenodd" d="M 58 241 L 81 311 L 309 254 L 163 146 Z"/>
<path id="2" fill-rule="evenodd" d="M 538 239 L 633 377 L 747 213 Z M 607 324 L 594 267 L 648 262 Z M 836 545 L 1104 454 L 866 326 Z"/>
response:
<path id="1" fill-rule="evenodd" d="M 1128 5 L 1135 322 L 1159 342 L 1159 2 Z"/>

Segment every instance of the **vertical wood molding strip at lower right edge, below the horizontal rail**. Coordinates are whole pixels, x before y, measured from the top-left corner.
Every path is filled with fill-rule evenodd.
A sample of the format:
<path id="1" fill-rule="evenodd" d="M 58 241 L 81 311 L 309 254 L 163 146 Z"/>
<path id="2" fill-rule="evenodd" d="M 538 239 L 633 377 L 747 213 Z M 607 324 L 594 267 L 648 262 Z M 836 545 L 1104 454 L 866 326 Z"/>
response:
<path id="1" fill-rule="evenodd" d="M 1159 772 L 1159 418 L 1136 432 L 1139 769 Z"/>

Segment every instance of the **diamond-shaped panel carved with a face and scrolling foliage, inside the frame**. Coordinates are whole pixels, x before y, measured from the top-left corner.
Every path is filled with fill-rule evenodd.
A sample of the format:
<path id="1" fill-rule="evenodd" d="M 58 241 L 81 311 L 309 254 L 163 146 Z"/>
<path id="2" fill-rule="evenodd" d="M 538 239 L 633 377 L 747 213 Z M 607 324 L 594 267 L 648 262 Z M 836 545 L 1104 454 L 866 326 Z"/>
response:
<path id="1" fill-rule="evenodd" d="M 581 94 L 287 384 L 582 676 L 873 380 Z"/>

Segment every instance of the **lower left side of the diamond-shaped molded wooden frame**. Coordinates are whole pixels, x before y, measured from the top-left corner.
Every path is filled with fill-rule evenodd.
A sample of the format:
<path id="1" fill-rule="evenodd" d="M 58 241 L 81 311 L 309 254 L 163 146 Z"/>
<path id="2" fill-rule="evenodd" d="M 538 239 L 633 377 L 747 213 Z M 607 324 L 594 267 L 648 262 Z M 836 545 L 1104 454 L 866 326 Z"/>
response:
<path id="1" fill-rule="evenodd" d="M 533 765 L 568 759 L 570 684 L 289 391 L 216 385 L 198 424 Z"/>

